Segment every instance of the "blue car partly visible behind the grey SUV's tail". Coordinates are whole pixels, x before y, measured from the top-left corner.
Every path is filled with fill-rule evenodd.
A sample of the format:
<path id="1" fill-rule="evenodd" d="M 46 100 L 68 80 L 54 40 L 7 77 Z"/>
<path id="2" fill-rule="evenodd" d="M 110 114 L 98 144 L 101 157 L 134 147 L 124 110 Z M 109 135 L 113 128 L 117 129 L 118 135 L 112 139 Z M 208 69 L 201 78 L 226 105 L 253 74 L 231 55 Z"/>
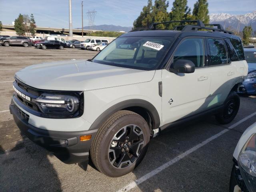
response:
<path id="1" fill-rule="evenodd" d="M 244 56 L 248 63 L 248 76 L 240 85 L 238 93 L 256 94 L 256 48 L 245 48 Z"/>

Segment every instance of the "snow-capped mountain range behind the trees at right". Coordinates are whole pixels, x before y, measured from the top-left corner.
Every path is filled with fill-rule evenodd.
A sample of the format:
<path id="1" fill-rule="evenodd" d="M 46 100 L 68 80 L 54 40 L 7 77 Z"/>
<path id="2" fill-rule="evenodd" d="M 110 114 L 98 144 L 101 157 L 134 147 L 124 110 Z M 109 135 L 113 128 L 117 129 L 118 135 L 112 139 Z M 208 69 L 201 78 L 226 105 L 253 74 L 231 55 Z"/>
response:
<path id="1" fill-rule="evenodd" d="M 225 28 L 231 27 L 234 30 L 239 28 L 242 31 L 244 26 L 251 25 L 253 30 L 256 30 L 256 10 L 252 13 L 244 15 L 234 15 L 228 13 L 210 14 L 210 23 L 222 24 Z M 238 26 L 239 24 L 239 26 Z"/>

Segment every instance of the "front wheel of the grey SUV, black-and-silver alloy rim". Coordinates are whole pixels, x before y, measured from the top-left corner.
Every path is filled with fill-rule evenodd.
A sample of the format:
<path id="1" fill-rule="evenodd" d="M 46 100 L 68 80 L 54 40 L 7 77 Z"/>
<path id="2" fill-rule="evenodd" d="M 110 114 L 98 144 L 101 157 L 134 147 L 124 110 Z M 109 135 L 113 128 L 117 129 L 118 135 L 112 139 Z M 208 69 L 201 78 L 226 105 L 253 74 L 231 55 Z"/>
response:
<path id="1" fill-rule="evenodd" d="M 90 148 L 90 157 L 103 174 L 123 176 L 140 164 L 149 140 L 150 130 L 144 118 L 134 112 L 121 110 L 100 126 Z"/>

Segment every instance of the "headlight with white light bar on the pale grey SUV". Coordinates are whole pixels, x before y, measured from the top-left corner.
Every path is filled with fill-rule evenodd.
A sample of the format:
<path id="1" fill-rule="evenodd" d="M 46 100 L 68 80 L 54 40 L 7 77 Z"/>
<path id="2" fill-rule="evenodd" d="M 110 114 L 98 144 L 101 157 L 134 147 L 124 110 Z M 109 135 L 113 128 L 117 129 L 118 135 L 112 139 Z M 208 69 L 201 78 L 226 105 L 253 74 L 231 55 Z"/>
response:
<path id="1" fill-rule="evenodd" d="M 45 114 L 64 115 L 72 117 L 79 111 L 79 98 L 75 95 L 41 94 L 36 98 L 36 104 Z"/>

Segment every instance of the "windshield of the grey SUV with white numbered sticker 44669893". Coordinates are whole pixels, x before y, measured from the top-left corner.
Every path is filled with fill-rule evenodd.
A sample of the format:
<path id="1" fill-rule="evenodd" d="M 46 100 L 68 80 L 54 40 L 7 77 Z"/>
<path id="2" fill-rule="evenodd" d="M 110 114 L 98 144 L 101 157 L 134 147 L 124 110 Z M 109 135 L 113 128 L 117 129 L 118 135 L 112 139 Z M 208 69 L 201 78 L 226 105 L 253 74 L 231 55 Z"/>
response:
<path id="1" fill-rule="evenodd" d="M 169 50 L 170 37 L 116 38 L 92 62 L 141 70 L 153 70 Z"/>

